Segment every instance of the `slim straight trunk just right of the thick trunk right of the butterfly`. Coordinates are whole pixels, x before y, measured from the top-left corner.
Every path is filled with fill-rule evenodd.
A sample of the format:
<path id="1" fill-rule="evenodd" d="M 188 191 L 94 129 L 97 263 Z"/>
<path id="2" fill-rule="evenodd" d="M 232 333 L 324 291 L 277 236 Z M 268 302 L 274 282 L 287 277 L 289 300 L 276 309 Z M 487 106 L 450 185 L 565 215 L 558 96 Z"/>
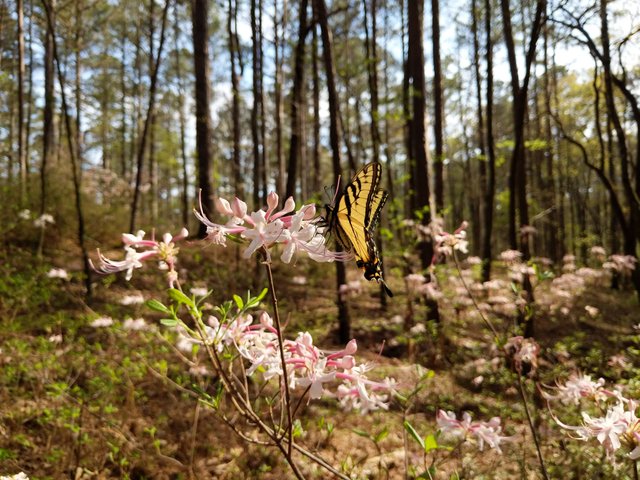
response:
<path id="1" fill-rule="evenodd" d="M 440 3 L 431 0 L 431 28 L 433 41 L 433 102 L 435 115 L 433 131 L 435 133 L 436 158 L 433 161 L 434 194 L 436 213 L 444 210 L 444 94 L 442 85 L 442 64 L 440 61 Z"/>

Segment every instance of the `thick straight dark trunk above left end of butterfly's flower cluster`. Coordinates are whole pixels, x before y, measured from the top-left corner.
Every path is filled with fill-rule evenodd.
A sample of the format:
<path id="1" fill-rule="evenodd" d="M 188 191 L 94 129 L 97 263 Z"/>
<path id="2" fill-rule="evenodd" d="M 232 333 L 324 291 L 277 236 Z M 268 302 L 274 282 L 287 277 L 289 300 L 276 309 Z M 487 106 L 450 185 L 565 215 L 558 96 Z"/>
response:
<path id="1" fill-rule="evenodd" d="M 201 191 L 202 207 L 205 212 L 213 212 L 213 158 L 211 145 L 211 90 L 209 71 L 209 13 L 207 0 L 193 0 L 191 4 L 193 32 L 193 64 L 195 72 L 196 96 L 196 152 L 198 155 L 198 187 Z M 184 147 L 183 147 L 184 149 Z M 184 159 L 186 164 L 186 158 Z M 185 168 L 185 167 L 183 167 Z M 184 171 L 186 181 L 186 171 Z M 186 196 L 186 185 L 185 185 Z M 204 224 L 198 227 L 198 236 L 203 238 L 207 231 Z"/>

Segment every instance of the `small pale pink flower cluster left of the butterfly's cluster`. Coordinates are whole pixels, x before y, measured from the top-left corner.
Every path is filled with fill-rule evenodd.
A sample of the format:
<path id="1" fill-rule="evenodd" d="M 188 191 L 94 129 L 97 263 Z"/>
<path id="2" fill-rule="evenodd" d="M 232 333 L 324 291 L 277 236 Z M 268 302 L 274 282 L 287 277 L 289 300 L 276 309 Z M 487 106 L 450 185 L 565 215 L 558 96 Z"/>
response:
<path id="1" fill-rule="evenodd" d="M 92 264 L 92 267 L 97 272 L 104 274 L 126 271 L 126 279 L 128 281 L 131 280 L 133 270 L 142 267 L 142 262 L 157 259 L 160 262 L 160 269 L 167 270 L 169 286 L 173 288 L 178 281 L 178 273 L 175 270 L 175 266 L 179 249 L 176 247 L 175 242 L 187 238 L 189 232 L 186 228 L 183 228 L 176 236 L 165 233 L 162 236 L 162 241 L 157 241 L 154 238 L 144 240 L 144 235 L 145 232 L 142 230 L 135 235 L 131 233 L 122 234 L 122 243 L 124 243 L 126 252 L 125 259 L 120 261 L 110 260 L 98 250 L 100 266 L 96 268 Z"/>

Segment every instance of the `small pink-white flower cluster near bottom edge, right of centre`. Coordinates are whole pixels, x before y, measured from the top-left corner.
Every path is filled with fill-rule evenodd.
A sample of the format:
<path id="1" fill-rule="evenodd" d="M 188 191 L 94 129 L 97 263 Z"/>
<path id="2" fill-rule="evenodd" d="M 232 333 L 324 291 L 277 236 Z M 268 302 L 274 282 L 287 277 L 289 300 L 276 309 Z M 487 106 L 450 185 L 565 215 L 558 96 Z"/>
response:
<path id="1" fill-rule="evenodd" d="M 485 443 L 498 452 L 502 452 L 500 444 L 511 441 L 512 437 L 502 435 L 500 417 L 493 417 L 488 422 L 472 421 L 469 412 L 464 412 L 458 420 L 454 412 L 438 410 L 436 422 L 440 433 L 461 441 L 471 440 L 478 444 L 478 449 L 483 450 Z"/>

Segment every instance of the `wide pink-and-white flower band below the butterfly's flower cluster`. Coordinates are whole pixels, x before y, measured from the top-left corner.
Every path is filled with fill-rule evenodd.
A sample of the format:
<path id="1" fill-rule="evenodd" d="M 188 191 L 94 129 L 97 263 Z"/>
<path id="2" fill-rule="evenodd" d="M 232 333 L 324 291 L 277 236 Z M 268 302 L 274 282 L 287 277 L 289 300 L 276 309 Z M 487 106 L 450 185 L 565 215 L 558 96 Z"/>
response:
<path id="1" fill-rule="evenodd" d="M 204 339 L 197 333 L 178 327 L 178 348 L 191 351 L 194 344 L 202 343 L 218 352 L 233 348 L 249 362 L 247 375 L 261 372 L 264 380 L 284 376 L 278 334 L 269 314 L 263 312 L 257 323 L 248 314 L 230 322 L 221 322 L 210 316 L 207 323 Z M 308 389 L 310 399 L 324 395 L 336 397 L 345 409 L 356 409 L 362 413 L 388 408 L 395 381 L 375 382 L 366 377 L 371 366 L 357 364 L 355 340 L 351 340 L 343 350 L 330 353 L 316 347 L 308 332 L 301 332 L 295 340 L 285 340 L 283 350 L 288 385 L 292 390 Z M 340 382 L 340 385 L 334 392 L 328 391 L 326 384 L 334 382 Z"/>

